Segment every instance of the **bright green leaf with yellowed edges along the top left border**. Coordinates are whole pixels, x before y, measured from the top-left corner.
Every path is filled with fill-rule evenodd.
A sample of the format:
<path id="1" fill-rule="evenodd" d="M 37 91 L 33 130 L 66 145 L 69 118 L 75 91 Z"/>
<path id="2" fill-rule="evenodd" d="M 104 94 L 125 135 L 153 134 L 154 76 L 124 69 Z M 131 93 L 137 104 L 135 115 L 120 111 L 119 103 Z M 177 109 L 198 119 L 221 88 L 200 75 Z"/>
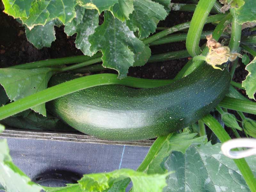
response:
<path id="1" fill-rule="evenodd" d="M 128 4 L 131 0 L 3 0 L 4 12 L 14 18 L 20 18 L 23 24 L 32 29 L 36 25 L 45 25 L 54 19 L 59 19 L 64 25 L 68 24 L 75 18 L 76 5 L 86 9 L 96 9 L 100 14 L 104 10 L 110 10 L 117 6 L 118 2 L 122 14 L 132 12 L 132 5 Z M 127 3 L 127 6 L 125 3 Z M 116 14 L 116 13 L 115 13 Z M 119 15 L 119 13 L 117 13 Z M 80 16 L 78 16 L 80 17 Z M 77 18 L 78 18 L 77 17 Z M 79 19 L 78 19 L 79 20 Z"/>

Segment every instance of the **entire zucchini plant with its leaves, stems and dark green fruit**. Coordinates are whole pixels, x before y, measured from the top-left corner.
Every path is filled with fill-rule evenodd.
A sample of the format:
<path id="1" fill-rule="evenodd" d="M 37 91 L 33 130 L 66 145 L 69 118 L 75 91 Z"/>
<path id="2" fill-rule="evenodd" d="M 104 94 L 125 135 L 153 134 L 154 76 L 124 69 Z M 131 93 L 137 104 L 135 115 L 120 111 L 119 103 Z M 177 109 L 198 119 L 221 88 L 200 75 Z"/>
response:
<path id="1" fill-rule="evenodd" d="M 249 28 L 256 23 L 254 0 L 2 2 L 4 12 L 25 27 L 36 48 L 51 46 L 54 26 L 64 25 L 68 36 L 76 34 L 76 47 L 84 55 L 0 68 L 1 123 L 19 118 L 31 129 L 47 127 L 47 122 L 56 130 L 64 121 L 108 140 L 157 139 L 136 171 L 85 174 L 77 184 L 62 188 L 31 182 L 12 163 L 6 141 L 0 140 L 0 189 L 110 192 L 125 191 L 132 181 L 132 191 L 256 191 L 255 158 L 229 159 L 221 153 L 221 144 L 212 145 L 206 134 L 208 127 L 220 142 L 231 139 L 228 132 L 255 137 L 256 123 L 245 114 L 256 115 L 256 29 Z M 158 27 L 172 10 L 193 12 L 192 20 Z M 99 15 L 104 15 L 100 24 Z M 213 31 L 203 31 L 207 23 Z M 152 46 L 180 41 L 186 41 L 186 50 L 151 55 Z M 127 76 L 130 67 L 188 57 L 172 80 Z M 249 72 L 242 84 L 232 80 L 239 57 Z M 118 74 L 102 73 L 106 69 Z M 88 71 L 95 74 L 82 75 Z M 234 87 L 245 90 L 249 99 Z M 230 131 L 210 115 L 214 109 Z"/>

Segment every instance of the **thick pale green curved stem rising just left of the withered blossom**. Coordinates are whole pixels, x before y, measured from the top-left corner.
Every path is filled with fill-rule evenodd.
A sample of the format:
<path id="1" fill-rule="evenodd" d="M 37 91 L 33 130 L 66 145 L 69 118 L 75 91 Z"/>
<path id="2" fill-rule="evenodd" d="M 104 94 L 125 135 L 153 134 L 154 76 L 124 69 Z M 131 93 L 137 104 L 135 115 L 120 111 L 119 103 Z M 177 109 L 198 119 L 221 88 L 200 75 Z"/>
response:
<path id="1" fill-rule="evenodd" d="M 200 36 L 206 18 L 210 13 L 214 3 L 215 0 L 200 0 L 196 6 L 196 10 L 191 20 L 191 26 L 188 29 L 188 36 L 186 40 L 186 48 L 192 57 L 201 53 L 199 47 Z"/>

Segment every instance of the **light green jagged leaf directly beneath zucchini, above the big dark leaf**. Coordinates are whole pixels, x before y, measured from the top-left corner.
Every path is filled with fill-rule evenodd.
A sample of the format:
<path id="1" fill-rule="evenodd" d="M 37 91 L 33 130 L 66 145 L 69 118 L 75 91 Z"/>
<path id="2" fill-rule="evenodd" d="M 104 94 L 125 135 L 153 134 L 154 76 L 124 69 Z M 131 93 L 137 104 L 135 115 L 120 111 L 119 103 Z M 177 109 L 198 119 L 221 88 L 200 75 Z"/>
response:
<path id="1" fill-rule="evenodd" d="M 154 158 L 148 164 L 146 171 L 148 174 L 153 173 L 165 173 L 166 168 L 164 162 L 166 158 L 172 153 L 172 151 L 180 151 L 185 153 L 186 149 L 192 144 L 202 144 L 205 137 L 194 138 L 196 133 L 188 134 L 185 133 L 171 133 L 162 143 L 161 148 L 154 154 Z"/>

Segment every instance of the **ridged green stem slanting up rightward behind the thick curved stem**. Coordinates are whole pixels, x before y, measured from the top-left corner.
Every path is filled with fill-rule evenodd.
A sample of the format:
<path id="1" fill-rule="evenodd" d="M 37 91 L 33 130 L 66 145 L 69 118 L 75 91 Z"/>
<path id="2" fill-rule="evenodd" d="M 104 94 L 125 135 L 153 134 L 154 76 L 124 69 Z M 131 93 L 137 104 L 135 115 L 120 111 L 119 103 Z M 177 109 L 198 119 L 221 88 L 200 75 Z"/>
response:
<path id="1" fill-rule="evenodd" d="M 222 20 L 225 16 L 226 16 L 226 14 L 216 14 L 216 15 L 209 16 L 206 19 L 205 23 L 211 23 L 211 22 L 214 22 L 214 21 Z M 180 31 L 182 29 L 189 28 L 189 26 L 190 26 L 190 21 L 189 22 L 185 22 L 185 23 L 181 23 L 179 25 L 175 25 L 175 26 L 173 26 L 171 28 L 165 29 L 165 30 L 163 30 L 163 31 L 161 31 L 159 33 L 156 33 L 155 35 L 152 35 L 152 36 L 144 39 L 143 43 L 144 44 L 150 44 L 150 43 L 156 41 L 157 39 L 160 39 L 162 37 L 170 35 L 170 34 L 172 34 L 174 32 Z"/>

